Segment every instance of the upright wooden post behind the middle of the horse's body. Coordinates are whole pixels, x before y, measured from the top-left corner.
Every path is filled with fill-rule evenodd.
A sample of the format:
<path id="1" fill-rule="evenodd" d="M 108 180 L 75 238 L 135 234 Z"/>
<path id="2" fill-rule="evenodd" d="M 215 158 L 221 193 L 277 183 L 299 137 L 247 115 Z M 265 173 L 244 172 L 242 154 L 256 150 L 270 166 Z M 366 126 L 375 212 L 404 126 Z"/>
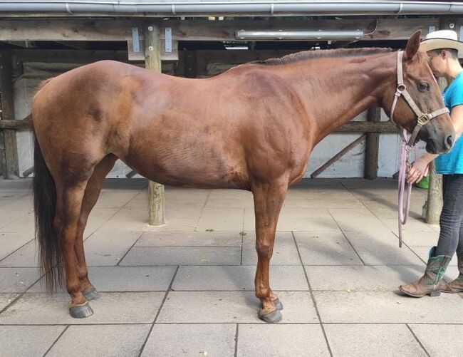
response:
<path id="1" fill-rule="evenodd" d="M 145 68 L 161 71 L 160 27 L 155 21 L 145 26 Z M 158 226 L 165 223 L 164 186 L 150 181 L 148 184 L 149 224 Z"/>

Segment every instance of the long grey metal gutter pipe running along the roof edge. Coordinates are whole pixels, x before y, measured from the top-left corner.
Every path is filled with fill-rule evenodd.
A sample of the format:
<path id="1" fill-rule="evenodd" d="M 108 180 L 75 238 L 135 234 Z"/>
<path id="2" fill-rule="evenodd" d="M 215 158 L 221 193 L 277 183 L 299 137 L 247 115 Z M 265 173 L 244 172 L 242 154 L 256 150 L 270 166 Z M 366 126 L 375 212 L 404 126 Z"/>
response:
<path id="1" fill-rule="evenodd" d="M 51 0 L 1 1 L 0 13 L 63 12 L 68 14 L 103 13 L 150 16 L 204 15 L 360 15 L 360 14 L 463 14 L 463 4 L 454 1 L 83 1 Z M 5 14 L 2 14 L 5 15 Z"/>

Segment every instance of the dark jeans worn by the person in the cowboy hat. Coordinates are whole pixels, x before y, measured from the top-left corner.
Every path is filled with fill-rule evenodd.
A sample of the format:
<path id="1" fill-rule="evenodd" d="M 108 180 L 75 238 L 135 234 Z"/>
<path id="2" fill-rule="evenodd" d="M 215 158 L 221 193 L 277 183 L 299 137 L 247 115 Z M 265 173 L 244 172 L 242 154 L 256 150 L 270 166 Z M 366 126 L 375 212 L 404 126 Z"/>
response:
<path id="1" fill-rule="evenodd" d="M 436 256 L 463 254 L 463 175 L 442 175 L 444 206 Z"/>

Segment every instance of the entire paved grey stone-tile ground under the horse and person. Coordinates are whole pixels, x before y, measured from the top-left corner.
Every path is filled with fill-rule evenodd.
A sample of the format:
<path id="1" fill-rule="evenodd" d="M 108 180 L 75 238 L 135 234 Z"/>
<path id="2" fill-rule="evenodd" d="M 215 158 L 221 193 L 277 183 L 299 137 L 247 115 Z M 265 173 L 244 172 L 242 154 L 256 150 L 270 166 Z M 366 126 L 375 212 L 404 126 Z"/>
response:
<path id="1" fill-rule="evenodd" d="M 148 229 L 144 182 L 108 181 L 85 231 L 88 319 L 41 288 L 30 181 L 0 181 L 0 356 L 461 356 L 463 295 L 410 299 L 438 227 L 414 191 L 397 247 L 392 180 L 307 180 L 288 193 L 271 284 L 277 325 L 257 318 L 249 192 L 166 191 Z M 456 262 L 448 276 L 457 275 Z"/>

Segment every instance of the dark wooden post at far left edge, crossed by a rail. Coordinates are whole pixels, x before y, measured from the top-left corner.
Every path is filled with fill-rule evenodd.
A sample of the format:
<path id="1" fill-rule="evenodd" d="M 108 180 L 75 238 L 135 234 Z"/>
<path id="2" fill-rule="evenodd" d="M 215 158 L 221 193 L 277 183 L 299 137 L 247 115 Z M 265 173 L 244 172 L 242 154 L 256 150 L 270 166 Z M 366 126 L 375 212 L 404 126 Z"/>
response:
<path id="1" fill-rule="evenodd" d="M 11 81 L 11 56 L 9 51 L 0 51 L 0 98 L 1 120 L 14 120 L 14 95 Z M 19 177 L 16 131 L 4 130 L 4 177 Z"/>

